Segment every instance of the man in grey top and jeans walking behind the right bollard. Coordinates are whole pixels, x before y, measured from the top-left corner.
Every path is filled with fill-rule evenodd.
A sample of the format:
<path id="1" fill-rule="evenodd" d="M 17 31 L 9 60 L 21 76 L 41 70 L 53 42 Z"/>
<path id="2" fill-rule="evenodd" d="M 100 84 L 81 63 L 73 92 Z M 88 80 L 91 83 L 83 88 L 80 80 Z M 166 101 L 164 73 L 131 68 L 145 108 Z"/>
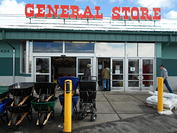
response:
<path id="1" fill-rule="evenodd" d="M 168 91 L 170 93 L 173 93 L 173 90 L 170 87 L 170 85 L 168 83 L 168 80 L 167 80 L 168 79 L 168 71 L 167 71 L 167 69 L 163 65 L 161 65 L 160 66 L 160 70 L 161 70 L 161 77 L 164 78 L 164 84 L 165 84 L 165 86 L 167 87 L 167 89 L 168 89 Z"/>

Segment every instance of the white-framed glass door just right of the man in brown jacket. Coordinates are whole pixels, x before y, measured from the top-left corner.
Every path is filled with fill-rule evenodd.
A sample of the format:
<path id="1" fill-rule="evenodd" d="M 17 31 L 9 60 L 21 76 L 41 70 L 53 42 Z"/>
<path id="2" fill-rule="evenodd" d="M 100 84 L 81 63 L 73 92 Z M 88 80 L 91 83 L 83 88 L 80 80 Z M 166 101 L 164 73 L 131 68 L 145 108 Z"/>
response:
<path id="1" fill-rule="evenodd" d="M 111 59 L 112 90 L 124 90 L 124 60 Z"/>

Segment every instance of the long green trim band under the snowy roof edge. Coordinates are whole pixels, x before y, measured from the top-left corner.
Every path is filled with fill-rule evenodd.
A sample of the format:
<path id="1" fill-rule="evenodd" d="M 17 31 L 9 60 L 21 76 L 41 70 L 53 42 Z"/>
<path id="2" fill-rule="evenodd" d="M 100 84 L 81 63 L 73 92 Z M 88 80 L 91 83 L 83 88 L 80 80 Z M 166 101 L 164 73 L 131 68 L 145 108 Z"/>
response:
<path id="1" fill-rule="evenodd" d="M 111 42 L 177 42 L 177 32 L 61 29 L 0 29 L 3 40 L 74 40 Z M 2 35 L 4 34 L 4 36 Z"/>

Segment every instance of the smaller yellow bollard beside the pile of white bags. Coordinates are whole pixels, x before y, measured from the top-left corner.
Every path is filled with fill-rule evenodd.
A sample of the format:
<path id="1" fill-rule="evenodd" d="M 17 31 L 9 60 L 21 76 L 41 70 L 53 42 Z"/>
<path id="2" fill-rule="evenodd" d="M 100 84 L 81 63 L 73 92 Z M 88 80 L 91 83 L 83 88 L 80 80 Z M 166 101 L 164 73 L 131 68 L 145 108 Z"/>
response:
<path id="1" fill-rule="evenodd" d="M 159 77 L 158 80 L 158 104 L 157 111 L 158 113 L 163 112 L 163 87 L 164 87 L 164 79 Z"/>

